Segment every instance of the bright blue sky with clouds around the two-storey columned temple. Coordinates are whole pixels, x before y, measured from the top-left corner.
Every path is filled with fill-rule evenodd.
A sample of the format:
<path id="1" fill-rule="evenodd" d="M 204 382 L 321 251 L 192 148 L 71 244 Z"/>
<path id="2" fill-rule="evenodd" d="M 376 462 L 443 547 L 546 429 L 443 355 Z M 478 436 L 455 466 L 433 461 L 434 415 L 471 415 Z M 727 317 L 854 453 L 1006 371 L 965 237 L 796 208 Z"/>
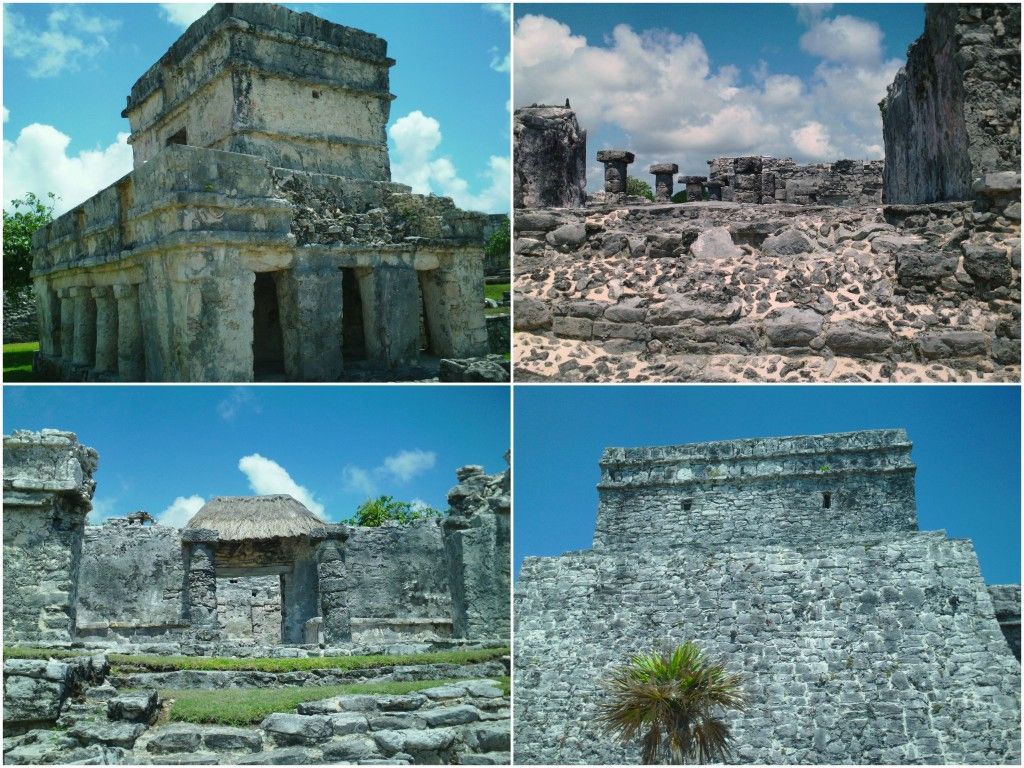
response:
<path id="1" fill-rule="evenodd" d="M 508 210 L 508 5 L 286 5 L 388 41 L 395 180 Z M 67 209 L 130 170 L 128 91 L 206 7 L 5 4 L 4 205 L 55 190 Z"/>

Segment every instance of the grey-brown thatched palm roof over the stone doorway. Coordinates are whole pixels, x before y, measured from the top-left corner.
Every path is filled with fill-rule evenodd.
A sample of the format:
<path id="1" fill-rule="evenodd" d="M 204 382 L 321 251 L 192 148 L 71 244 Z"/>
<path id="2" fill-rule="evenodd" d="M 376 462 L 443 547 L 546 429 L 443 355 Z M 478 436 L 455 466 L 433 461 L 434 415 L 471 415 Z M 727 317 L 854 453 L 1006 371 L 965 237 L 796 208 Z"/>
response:
<path id="1" fill-rule="evenodd" d="M 309 536 L 323 526 L 323 520 L 287 495 L 217 496 L 185 524 L 216 530 L 222 542 Z"/>

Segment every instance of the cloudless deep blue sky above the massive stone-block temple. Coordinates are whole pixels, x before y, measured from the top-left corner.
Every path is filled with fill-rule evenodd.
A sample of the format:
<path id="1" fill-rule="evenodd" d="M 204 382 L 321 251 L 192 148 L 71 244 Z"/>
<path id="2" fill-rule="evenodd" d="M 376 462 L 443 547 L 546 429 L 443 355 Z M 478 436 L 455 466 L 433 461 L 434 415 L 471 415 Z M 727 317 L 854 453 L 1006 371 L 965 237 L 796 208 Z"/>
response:
<path id="1" fill-rule="evenodd" d="M 989 584 L 1019 583 L 1016 386 L 521 386 L 515 393 L 515 570 L 590 549 L 606 446 L 903 427 L 923 530 L 971 539 Z"/>

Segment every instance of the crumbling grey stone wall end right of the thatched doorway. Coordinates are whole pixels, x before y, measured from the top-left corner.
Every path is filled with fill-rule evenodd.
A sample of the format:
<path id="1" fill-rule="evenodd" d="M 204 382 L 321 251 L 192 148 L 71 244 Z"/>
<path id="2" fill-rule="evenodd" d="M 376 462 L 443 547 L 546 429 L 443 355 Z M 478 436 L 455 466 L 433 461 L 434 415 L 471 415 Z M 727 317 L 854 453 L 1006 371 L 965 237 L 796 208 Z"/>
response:
<path id="1" fill-rule="evenodd" d="M 505 460 L 509 460 L 506 454 Z M 462 467 L 449 492 L 444 549 L 456 637 L 506 637 L 511 627 L 510 472 Z"/>

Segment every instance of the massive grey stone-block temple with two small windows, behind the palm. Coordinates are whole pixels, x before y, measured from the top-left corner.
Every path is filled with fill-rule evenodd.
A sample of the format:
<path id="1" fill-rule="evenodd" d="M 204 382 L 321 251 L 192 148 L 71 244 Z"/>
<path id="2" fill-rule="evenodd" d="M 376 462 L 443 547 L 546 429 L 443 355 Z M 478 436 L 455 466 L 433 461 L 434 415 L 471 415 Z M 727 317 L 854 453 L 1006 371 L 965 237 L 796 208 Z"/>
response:
<path id="1" fill-rule="evenodd" d="M 607 449 L 593 549 L 528 557 L 516 587 L 516 761 L 638 762 L 600 730 L 600 681 L 693 640 L 742 678 L 735 762 L 1019 763 L 993 603 L 1016 602 L 1013 642 L 1020 587 L 919 531 L 910 449 L 900 429 Z"/>

